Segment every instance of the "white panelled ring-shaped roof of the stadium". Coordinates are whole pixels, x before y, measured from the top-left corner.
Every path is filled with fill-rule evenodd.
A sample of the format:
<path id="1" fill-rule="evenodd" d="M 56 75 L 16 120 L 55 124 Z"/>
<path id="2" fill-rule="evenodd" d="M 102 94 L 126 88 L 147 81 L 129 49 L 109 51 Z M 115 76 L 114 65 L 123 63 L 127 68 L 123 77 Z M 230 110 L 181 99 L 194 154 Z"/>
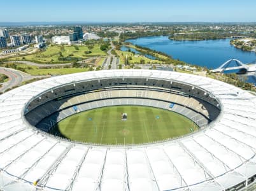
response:
<path id="1" fill-rule="evenodd" d="M 33 97 L 64 83 L 104 77 L 176 80 L 222 105 L 209 127 L 184 138 L 134 146 L 73 143 L 24 118 Z M 0 190 L 225 190 L 256 173 L 256 97 L 221 81 L 152 70 L 108 70 L 36 81 L 0 95 Z M 39 180 L 43 187 L 34 186 Z"/>

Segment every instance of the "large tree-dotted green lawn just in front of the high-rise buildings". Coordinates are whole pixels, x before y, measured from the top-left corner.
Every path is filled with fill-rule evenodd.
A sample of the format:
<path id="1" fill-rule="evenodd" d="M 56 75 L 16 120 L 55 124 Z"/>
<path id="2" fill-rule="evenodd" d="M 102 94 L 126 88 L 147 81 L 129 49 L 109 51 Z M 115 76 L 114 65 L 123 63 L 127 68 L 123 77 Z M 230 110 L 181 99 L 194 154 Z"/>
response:
<path id="1" fill-rule="evenodd" d="M 30 60 L 34 62 L 39 63 L 59 63 L 59 62 L 72 62 L 72 61 L 61 61 L 58 60 L 60 57 L 60 52 L 62 53 L 63 57 L 77 57 L 80 59 L 87 59 L 89 57 L 95 57 L 95 56 L 104 56 L 106 55 L 106 52 L 102 51 L 100 49 L 99 44 L 96 44 L 92 50 L 90 50 L 92 53 L 85 53 L 86 51 L 89 51 L 89 48 L 85 45 L 77 46 L 78 50 L 76 50 L 75 46 L 72 45 L 50 45 L 46 48 L 44 52 L 38 52 L 34 53 L 32 55 L 26 55 L 26 56 L 20 56 L 20 57 L 13 57 L 9 60 Z"/>

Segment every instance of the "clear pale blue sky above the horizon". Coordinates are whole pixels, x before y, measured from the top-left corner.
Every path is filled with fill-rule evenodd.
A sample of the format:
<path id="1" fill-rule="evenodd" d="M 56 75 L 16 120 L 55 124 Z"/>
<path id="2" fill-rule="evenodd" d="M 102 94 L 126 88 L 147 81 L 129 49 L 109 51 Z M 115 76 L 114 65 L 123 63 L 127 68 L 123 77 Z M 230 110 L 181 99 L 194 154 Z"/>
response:
<path id="1" fill-rule="evenodd" d="M 256 22 L 255 0 L 8 0 L 0 22 Z"/>

